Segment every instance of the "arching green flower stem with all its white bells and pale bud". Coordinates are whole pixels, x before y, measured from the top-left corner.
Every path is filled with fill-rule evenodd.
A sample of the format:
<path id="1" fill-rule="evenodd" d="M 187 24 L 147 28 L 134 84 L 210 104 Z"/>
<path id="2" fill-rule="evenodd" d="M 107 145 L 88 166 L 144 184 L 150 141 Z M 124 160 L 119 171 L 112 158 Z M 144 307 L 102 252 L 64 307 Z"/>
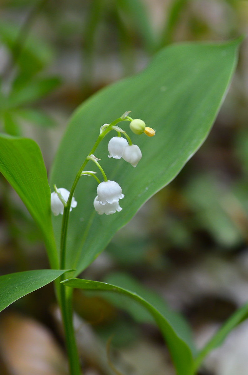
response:
<path id="1" fill-rule="evenodd" d="M 97 196 L 94 199 L 92 204 L 94 205 L 95 210 L 100 215 L 114 214 L 120 212 L 122 208 L 119 204 L 119 199 L 124 198 L 122 193 L 121 186 L 116 181 L 108 180 L 103 168 L 101 167 L 98 159 L 94 153 L 100 141 L 111 131 L 114 130 L 117 132 L 117 136 L 114 136 L 110 139 L 108 144 L 109 157 L 114 157 L 114 159 L 121 159 L 121 157 L 130 163 L 132 166 L 136 167 L 139 160 L 142 157 L 140 148 L 136 144 L 132 144 L 131 138 L 128 136 L 125 130 L 117 126 L 121 121 L 130 121 L 130 129 L 135 133 L 141 135 L 146 133 L 148 136 L 155 134 L 155 130 L 146 127 L 144 121 L 139 119 L 133 119 L 128 116 L 130 112 L 125 112 L 120 118 L 117 118 L 110 124 L 104 124 L 100 127 L 100 134 L 94 144 L 94 147 L 89 152 L 88 156 L 85 158 L 82 163 L 81 168 L 76 174 L 75 180 L 72 184 L 70 192 L 64 187 L 57 188 L 54 185 L 54 192 L 51 193 L 51 211 L 54 215 L 63 214 L 62 227 L 61 227 L 61 242 L 60 242 L 60 268 L 66 268 L 66 237 L 67 237 L 67 228 L 69 220 L 69 212 L 72 211 L 72 208 L 77 207 L 77 201 L 75 200 L 73 194 L 76 189 L 76 185 L 81 176 L 91 176 L 96 179 L 98 186 L 96 189 Z M 121 135 L 124 135 L 123 138 Z M 87 165 L 88 161 L 92 161 L 100 169 L 103 181 L 101 182 L 98 177 L 96 177 L 95 171 L 85 171 L 84 168 Z M 79 375 L 80 365 L 78 352 L 76 348 L 75 336 L 72 325 L 72 311 L 70 310 L 71 306 L 71 293 L 66 294 L 66 288 L 64 285 L 60 284 L 60 299 L 61 299 L 61 311 L 63 315 L 63 323 L 65 329 L 66 337 L 66 346 L 69 353 L 69 365 L 71 375 Z"/>

